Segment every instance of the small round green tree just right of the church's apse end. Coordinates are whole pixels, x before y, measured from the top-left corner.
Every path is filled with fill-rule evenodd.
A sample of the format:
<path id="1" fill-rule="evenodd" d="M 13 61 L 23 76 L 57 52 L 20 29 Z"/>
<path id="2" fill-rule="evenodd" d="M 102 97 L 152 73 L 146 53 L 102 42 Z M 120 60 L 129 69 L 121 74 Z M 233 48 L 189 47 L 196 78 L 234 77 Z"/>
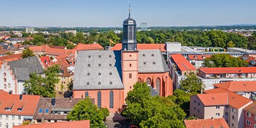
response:
<path id="1" fill-rule="evenodd" d="M 185 92 L 199 93 L 203 90 L 203 82 L 199 81 L 196 74 L 190 73 L 180 81 L 180 88 Z"/>

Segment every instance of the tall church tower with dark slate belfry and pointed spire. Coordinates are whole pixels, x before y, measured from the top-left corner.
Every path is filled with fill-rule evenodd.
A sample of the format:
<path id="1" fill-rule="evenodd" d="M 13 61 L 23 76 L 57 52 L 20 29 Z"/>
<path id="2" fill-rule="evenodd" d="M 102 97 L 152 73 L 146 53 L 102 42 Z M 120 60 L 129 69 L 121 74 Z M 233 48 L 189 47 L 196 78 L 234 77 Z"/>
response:
<path id="1" fill-rule="evenodd" d="M 121 55 L 122 82 L 124 85 L 125 99 L 127 93 L 133 89 L 133 84 L 138 81 L 136 21 L 131 18 L 131 8 L 129 8 L 129 18 L 125 19 L 123 22 L 123 40 Z"/>

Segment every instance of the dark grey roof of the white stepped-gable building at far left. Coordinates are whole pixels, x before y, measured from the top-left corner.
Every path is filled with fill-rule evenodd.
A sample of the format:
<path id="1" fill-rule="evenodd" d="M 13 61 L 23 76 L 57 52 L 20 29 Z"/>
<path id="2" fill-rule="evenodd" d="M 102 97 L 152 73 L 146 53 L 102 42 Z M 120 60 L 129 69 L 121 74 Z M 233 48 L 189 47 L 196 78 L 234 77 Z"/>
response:
<path id="1" fill-rule="evenodd" d="M 43 73 L 41 63 L 36 56 L 10 61 L 8 65 L 12 73 L 15 74 L 16 79 L 19 80 L 28 80 L 29 73 L 32 72 Z"/>

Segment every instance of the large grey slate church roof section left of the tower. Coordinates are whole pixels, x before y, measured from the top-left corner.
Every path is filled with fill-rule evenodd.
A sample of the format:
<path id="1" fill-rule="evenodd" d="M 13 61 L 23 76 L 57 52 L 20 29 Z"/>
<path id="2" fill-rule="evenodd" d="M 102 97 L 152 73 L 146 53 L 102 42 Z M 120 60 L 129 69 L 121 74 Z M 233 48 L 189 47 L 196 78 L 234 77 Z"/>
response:
<path id="1" fill-rule="evenodd" d="M 120 57 L 120 51 L 80 51 L 75 62 L 73 90 L 123 89 Z"/>

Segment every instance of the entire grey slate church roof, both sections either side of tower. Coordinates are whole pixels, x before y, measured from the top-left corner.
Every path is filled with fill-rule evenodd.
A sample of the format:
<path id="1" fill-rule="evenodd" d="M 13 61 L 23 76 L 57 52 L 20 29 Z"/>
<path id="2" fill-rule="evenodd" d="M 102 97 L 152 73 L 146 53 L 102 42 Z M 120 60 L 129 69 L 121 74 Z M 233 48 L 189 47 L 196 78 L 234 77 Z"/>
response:
<path id="1" fill-rule="evenodd" d="M 74 90 L 124 88 L 122 84 L 121 51 L 80 51 L 75 63 Z M 99 65 L 101 66 L 99 67 Z M 169 68 L 160 50 L 139 50 L 139 73 L 168 71 Z"/>

